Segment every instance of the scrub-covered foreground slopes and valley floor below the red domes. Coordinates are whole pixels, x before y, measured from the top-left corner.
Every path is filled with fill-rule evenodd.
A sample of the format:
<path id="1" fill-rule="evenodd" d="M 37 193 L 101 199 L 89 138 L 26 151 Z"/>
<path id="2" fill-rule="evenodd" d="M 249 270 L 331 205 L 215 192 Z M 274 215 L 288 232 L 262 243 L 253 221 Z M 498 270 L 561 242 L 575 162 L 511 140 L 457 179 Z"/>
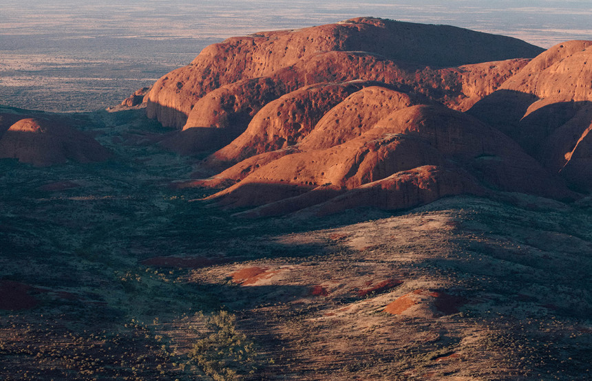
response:
<path id="1" fill-rule="evenodd" d="M 141 111 L 93 117 L 107 162 L 0 162 L 1 378 L 588 378 L 589 198 L 245 220 Z"/>

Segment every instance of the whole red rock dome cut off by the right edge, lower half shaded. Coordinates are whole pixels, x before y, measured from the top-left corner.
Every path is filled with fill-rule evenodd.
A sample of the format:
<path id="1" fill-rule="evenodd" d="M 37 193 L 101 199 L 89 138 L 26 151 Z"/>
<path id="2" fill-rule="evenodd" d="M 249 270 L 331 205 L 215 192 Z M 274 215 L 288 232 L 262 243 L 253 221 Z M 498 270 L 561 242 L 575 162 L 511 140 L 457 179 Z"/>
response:
<path id="1" fill-rule="evenodd" d="M 574 188 L 590 191 L 591 62 L 592 41 L 558 44 L 534 58 L 469 113 L 514 138 Z"/>

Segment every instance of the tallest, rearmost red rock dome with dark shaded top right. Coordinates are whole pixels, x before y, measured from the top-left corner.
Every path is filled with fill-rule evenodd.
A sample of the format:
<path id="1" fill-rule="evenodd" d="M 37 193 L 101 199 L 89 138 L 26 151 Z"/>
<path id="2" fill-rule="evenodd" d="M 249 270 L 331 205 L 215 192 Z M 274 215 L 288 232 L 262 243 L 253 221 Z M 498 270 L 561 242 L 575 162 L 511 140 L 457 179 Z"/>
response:
<path id="1" fill-rule="evenodd" d="M 374 73 L 375 78 L 361 78 L 365 80 L 412 85 L 433 81 L 444 91 L 442 78 L 416 78 L 416 70 L 531 58 L 541 52 L 505 36 L 372 18 L 261 32 L 210 45 L 190 65 L 160 78 L 147 96 L 147 112 L 166 126 L 181 128 L 210 91 L 263 77 L 279 78 L 284 94 L 314 83 L 360 79 L 363 72 Z M 434 70 L 428 74 L 433 76 Z"/>

